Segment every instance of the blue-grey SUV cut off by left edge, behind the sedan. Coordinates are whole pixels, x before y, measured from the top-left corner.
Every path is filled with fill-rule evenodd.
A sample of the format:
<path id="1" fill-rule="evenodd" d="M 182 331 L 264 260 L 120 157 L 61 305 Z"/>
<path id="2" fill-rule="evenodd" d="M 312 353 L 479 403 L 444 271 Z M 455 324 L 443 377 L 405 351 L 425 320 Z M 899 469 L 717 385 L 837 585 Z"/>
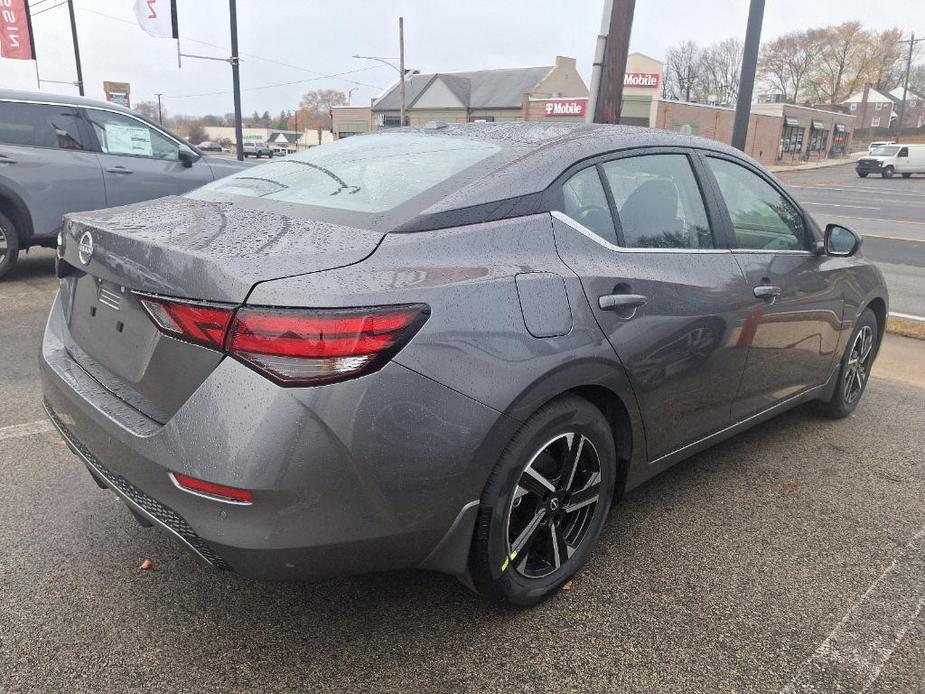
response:
<path id="1" fill-rule="evenodd" d="M 115 104 L 0 89 L 0 278 L 20 251 L 53 248 L 67 212 L 185 193 L 242 166 Z"/>

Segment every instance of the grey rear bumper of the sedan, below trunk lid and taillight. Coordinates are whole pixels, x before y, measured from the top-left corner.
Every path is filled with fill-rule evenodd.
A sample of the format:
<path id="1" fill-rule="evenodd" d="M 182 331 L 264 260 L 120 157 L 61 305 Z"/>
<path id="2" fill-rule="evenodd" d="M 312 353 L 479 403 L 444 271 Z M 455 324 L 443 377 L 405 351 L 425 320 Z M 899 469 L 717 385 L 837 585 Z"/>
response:
<path id="1" fill-rule="evenodd" d="M 465 571 L 432 556 L 481 494 L 509 423 L 398 364 L 282 389 L 225 359 L 161 425 L 65 348 L 58 300 L 42 346 L 52 422 L 91 473 L 206 563 L 305 579 L 397 568 Z M 250 506 L 178 489 L 169 472 L 252 490 Z M 449 543 L 457 547 L 459 543 Z"/>

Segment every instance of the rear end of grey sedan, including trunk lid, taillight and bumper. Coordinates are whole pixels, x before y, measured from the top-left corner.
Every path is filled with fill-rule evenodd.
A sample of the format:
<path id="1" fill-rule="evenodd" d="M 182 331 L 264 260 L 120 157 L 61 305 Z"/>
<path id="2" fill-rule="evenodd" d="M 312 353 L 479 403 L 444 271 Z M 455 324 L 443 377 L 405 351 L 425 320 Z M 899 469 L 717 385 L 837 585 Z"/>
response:
<path id="1" fill-rule="evenodd" d="M 232 179 L 215 185 L 265 185 Z M 484 480 L 460 481 L 498 413 L 395 361 L 424 302 L 248 301 L 275 278 L 362 262 L 375 224 L 196 195 L 67 220 L 42 345 L 49 418 L 98 484 L 214 567 L 421 565 L 477 498 Z"/>

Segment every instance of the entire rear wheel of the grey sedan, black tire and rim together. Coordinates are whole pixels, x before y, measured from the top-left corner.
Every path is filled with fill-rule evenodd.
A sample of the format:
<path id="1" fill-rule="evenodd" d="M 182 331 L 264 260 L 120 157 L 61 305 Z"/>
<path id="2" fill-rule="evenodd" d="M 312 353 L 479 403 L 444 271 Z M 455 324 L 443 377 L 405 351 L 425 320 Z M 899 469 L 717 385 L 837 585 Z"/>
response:
<path id="1" fill-rule="evenodd" d="M 482 492 L 469 554 L 478 593 L 492 602 L 528 607 L 558 590 L 597 544 L 613 503 L 616 470 L 613 432 L 587 400 L 563 397 L 531 416 Z M 518 553 L 515 542 L 527 537 Z"/>

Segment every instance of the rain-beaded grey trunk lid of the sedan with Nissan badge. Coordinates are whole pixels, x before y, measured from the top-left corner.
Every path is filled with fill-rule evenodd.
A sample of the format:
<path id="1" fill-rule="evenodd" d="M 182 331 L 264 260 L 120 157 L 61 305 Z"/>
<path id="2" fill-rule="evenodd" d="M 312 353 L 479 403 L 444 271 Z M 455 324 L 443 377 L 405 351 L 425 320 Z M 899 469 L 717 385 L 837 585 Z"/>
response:
<path id="1" fill-rule="evenodd" d="M 241 304 L 258 282 L 370 255 L 383 233 L 171 197 L 69 215 L 63 260 L 73 358 L 110 392 L 165 422 L 223 355 L 159 332 L 137 292 Z M 60 252 L 60 251 L 59 251 Z"/>

